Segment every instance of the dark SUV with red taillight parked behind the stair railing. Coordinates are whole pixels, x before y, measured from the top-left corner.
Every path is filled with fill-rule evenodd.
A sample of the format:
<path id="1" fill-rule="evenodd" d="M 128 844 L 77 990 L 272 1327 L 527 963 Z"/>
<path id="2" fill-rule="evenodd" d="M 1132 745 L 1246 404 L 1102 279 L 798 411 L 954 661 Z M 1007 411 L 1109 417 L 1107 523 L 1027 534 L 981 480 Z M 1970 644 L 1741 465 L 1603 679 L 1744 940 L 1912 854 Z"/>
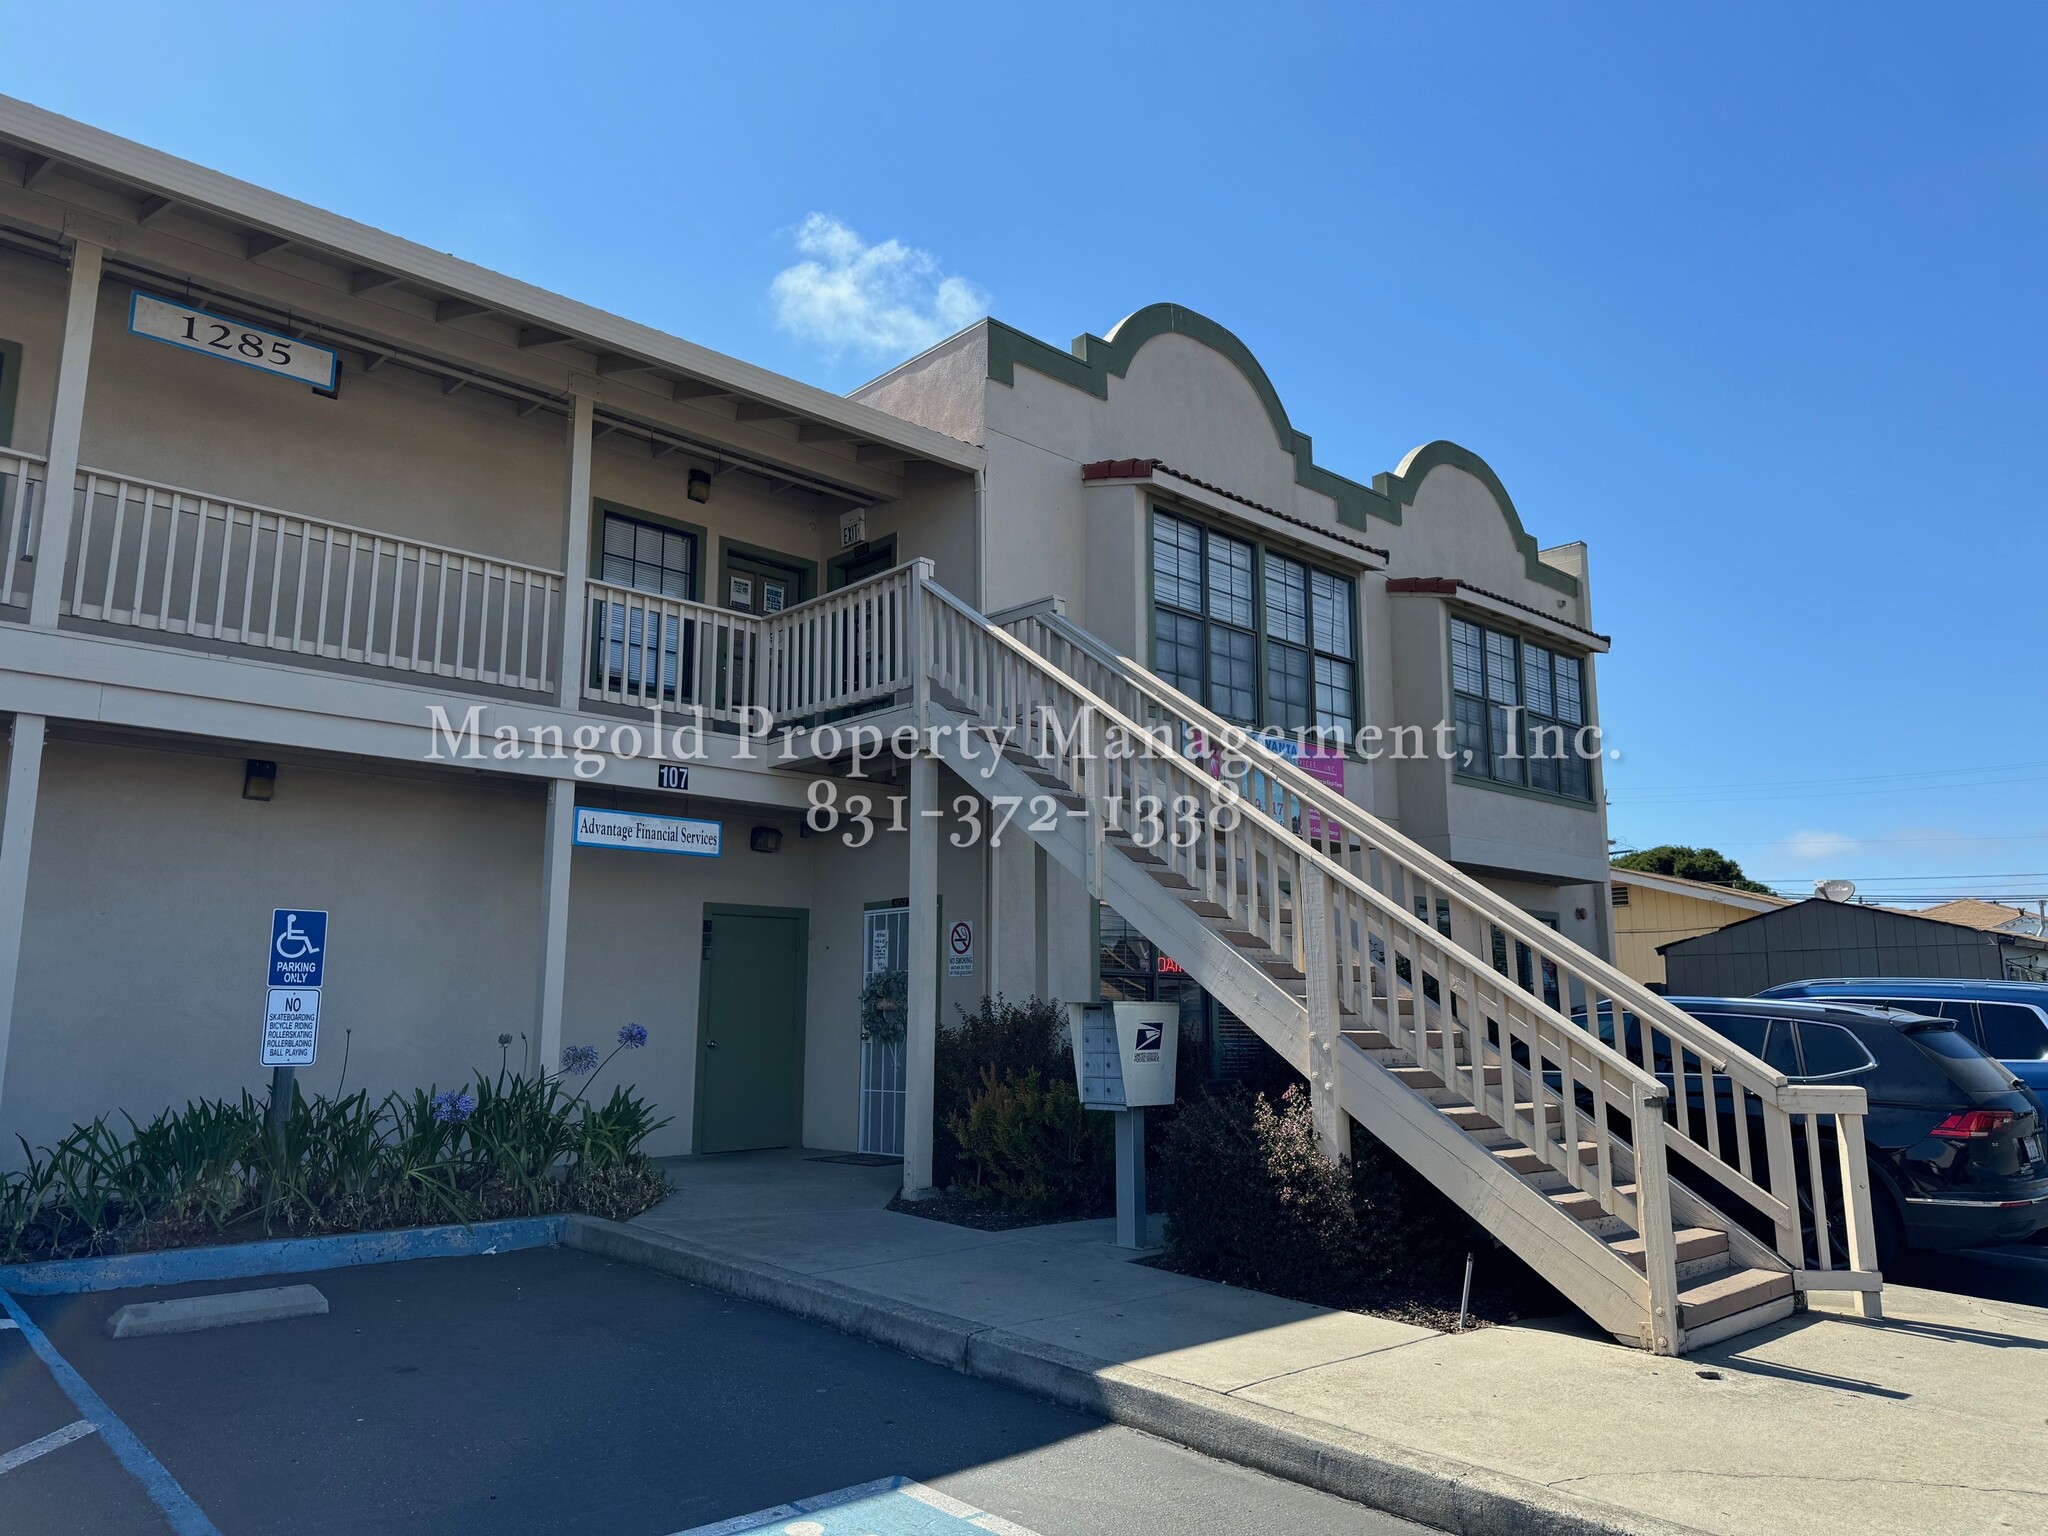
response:
<path id="1" fill-rule="evenodd" d="M 1864 1145 L 1870 1161 L 1878 1268 L 1903 1247 L 1976 1247 L 2015 1243 L 2048 1227 L 2048 1153 L 2042 1102 L 1958 1032 L 1954 1020 L 1862 1004 L 1759 997 L 1673 997 L 1753 1057 L 1794 1081 L 1851 1083 L 1870 1100 Z M 1606 1014 L 1606 1010 L 1602 1010 Z M 1653 1030 L 1657 1061 L 1645 1061 L 1640 1026 L 1624 1014 L 1626 1053 L 1673 1083 L 1667 1036 Z M 1602 1018 L 1602 1036 L 1614 1030 Z M 1673 1112 L 1704 1130 L 1706 1102 L 1698 1063 L 1683 1063 L 1673 1083 Z M 1724 1141 L 1733 1139 L 1733 1102 L 1714 1094 Z M 1753 1155 L 1765 1155 L 1761 1116 L 1747 1126 Z M 1833 1167 L 1833 1147 L 1825 1163 Z M 1761 1161 L 1759 1161 L 1761 1167 Z M 1683 1176 L 1683 1167 L 1675 1167 Z M 1829 1176 L 1833 1186 L 1833 1174 Z M 1706 1198 L 1720 1198 L 1712 1188 Z M 1802 1190 L 1802 1202 L 1808 1192 Z M 1839 1190 L 1829 1188 L 1829 1204 Z M 1733 1212 L 1731 1212 L 1733 1214 Z M 1841 1233 L 1839 1219 L 1831 1235 Z M 1808 1229 L 1812 1223 L 1808 1221 Z M 1839 1253 L 1837 1253 L 1839 1257 Z"/>

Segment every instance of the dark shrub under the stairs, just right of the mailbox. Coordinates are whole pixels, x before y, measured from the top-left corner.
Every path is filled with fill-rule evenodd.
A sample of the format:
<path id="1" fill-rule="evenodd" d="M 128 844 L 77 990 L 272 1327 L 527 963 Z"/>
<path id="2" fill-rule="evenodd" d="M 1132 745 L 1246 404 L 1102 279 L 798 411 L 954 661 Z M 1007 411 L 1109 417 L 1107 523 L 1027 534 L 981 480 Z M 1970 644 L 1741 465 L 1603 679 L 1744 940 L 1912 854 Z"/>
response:
<path id="1" fill-rule="evenodd" d="M 1161 1165 L 1171 1268 L 1303 1300 L 1356 1284 L 1350 1171 L 1317 1147 L 1298 1087 L 1278 1106 L 1243 1092 L 1184 1104 Z"/>

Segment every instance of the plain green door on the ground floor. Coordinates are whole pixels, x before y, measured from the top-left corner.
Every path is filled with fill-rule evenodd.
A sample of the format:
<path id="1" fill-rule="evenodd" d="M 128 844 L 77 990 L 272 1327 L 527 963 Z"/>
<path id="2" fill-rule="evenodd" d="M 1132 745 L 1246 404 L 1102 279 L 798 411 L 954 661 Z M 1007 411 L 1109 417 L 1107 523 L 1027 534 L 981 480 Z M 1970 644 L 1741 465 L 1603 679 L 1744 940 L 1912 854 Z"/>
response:
<path id="1" fill-rule="evenodd" d="M 705 907 L 696 1149 L 791 1147 L 803 1126 L 809 915 Z"/>

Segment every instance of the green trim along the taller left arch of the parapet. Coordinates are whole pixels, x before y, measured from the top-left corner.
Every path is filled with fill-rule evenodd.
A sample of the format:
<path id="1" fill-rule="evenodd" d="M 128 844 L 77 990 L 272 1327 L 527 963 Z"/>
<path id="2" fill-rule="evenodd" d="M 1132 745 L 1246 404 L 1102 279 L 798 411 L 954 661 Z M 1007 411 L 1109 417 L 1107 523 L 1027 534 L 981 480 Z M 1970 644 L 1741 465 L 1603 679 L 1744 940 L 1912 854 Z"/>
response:
<path id="1" fill-rule="evenodd" d="M 1282 453 L 1294 457 L 1294 481 L 1335 502 L 1337 522 L 1348 528 L 1364 528 L 1366 518 L 1401 522 L 1401 504 L 1391 496 L 1315 463 L 1315 446 L 1309 434 L 1296 432 L 1294 424 L 1288 422 L 1286 408 L 1280 403 L 1280 391 L 1274 389 L 1274 381 L 1266 377 L 1260 360 L 1251 356 L 1251 348 L 1208 315 L 1198 315 L 1178 303 L 1153 303 L 1118 322 L 1106 338 L 1075 336 L 1071 352 L 1047 346 L 1036 336 L 1026 336 L 993 317 L 987 326 L 991 383 L 1014 387 L 1016 369 L 1022 362 L 1032 373 L 1042 373 L 1047 379 L 1057 379 L 1073 389 L 1085 389 L 1096 399 L 1110 397 L 1110 377 L 1122 379 L 1130 371 L 1130 358 L 1139 354 L 1145 342 L 1167 334 L 1188 336 L 1210 352 L 1221 352 L 1245 375 L 1245 383 L 1251 385 L 1260 403 L 1266 406 L 1266 418 L 1274 426 L 1274 436 L 1280 440 Z"/>

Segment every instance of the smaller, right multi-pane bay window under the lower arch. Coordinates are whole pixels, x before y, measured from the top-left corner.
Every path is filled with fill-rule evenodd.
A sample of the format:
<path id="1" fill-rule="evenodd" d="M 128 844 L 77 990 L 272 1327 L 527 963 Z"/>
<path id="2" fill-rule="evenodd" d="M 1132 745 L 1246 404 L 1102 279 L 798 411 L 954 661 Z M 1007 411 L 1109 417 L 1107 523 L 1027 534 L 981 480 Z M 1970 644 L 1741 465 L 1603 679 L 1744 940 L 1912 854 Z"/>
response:
<path id="1" fill-rule="evenodd" d="M 1575 748 L 1587 723 L 1581 657 L 1452 618 L 1450 692 L 1460 772 L 1593 799 L 1591 764 Z"/>

